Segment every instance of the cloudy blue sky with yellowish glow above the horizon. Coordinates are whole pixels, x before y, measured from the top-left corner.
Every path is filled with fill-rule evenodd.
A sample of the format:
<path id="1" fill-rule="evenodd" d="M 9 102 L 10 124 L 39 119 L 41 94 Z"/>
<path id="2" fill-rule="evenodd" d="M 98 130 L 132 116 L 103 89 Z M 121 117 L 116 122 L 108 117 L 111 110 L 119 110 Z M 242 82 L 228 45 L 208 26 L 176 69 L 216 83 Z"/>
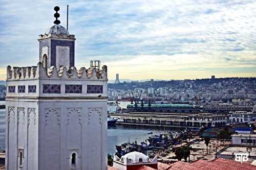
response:
<path id="1" fill-rule="evenodd" d="M 0 80 L 36 65 L 38 35 L 60 25 L 76 37 L 75 66 L 100 60 L 109 79 L 256 77 L 256 1 L 125 0 L 0 2 Z"/>

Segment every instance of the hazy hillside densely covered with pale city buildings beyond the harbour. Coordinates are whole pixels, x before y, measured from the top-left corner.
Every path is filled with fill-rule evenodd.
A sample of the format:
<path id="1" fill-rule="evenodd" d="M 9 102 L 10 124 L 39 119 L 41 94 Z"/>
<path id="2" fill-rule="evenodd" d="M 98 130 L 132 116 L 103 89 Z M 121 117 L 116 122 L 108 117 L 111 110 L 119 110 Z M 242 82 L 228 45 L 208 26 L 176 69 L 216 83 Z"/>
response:
<path id="1" fill-rule="evenodd" d="M 123 82 L 108 84 L 109 100 L 169 101 L 172 103 L 256 104 L 256 78 L 215 78 L 196 80 L 169 80 Z M 132 91 L 133 90 L 133 94 Z"/>

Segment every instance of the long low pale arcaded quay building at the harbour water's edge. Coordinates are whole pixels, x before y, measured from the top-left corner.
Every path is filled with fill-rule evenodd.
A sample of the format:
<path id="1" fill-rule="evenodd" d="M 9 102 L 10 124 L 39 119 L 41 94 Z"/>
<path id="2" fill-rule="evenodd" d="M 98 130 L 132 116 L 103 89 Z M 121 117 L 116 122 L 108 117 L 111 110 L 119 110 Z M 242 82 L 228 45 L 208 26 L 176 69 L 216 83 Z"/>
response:
<path id="1" fill-rule="evenodd" d="M 161 126 L 161 127 L 212 127 L 223 126 L 227 123 L 224 115 L 212 113 L 149 113 L 149 112 L 127 112 L 114 113 L 111 116 L 118 117 L 117 124 Z M 221 118 L 215 118 L 215 117 Z M 218 122 L 216 124 L 216 121 Z"/>

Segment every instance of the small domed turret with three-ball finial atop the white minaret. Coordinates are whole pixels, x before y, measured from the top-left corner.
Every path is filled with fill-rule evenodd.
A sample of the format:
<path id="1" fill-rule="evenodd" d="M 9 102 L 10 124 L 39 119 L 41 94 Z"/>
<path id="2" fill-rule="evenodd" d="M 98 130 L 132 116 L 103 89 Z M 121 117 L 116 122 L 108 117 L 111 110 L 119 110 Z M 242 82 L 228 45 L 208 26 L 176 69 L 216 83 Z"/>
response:
<path id="1" fill-rule="evenodd" d="M 44 35 L 39 35 L 39 61 L 43 67 L 75 65 L 75 35 L 70 35 L 65 27 L 60 25 L 59 7 L 54 7 L 54 25 L 48 28 Z"/>

